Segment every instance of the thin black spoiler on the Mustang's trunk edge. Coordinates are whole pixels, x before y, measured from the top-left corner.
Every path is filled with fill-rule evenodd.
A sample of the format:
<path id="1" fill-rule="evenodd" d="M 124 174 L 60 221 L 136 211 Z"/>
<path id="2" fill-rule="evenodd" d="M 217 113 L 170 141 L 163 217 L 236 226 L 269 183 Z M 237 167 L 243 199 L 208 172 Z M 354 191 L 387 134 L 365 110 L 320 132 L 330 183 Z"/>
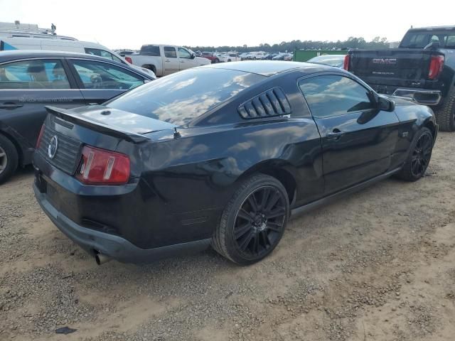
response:
<path id="1" fill-rule="evenodd" d="M 112 126 L 107 126 L 101 122 L 91 121 L 85 117 L 80 117 L 79 115 L 68 112 L 67 109 L 57 108 L 57 107 L 45 107 L 49 114 L 53 114 L 55 117 L 63 119 L 64 121 L 69 121 L 71 123 L 85 126 L 85 128 L 92 129 L 94 131 L 99 131 L 100 133 L 114 136 L 126 141 L 133 142 L 134 144 L 139 144 L 144 141 L 149 141 L 148 138 L 141 134 L 133 133 L 131 131 L 125 131 L 122 129 L 113 128 Z"/>

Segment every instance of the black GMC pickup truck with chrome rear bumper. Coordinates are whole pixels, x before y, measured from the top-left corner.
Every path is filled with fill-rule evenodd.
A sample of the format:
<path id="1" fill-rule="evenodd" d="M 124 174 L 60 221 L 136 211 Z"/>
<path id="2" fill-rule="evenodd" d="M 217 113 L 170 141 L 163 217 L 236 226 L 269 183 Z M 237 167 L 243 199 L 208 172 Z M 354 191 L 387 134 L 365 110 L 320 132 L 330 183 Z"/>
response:
<path id="1" fill-rule="evenodd" d="M 398 48 L 349 50 L 343 67 L 381 94 L 432 107 L 439 129 L 455 131 L 455 26 L 411 28 Z"/>

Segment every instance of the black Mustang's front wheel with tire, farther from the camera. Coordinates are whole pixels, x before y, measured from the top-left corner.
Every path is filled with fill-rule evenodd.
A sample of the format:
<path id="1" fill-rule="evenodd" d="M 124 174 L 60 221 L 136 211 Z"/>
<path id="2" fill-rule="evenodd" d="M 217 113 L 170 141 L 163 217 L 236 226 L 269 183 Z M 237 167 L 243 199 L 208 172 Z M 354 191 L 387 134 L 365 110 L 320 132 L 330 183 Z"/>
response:
<path id="1" fill-rule="evenodd" d="M 417 181 L 422 178 L 432 158 L 432 150 L 433 134 L 428 128 L 423 127 L 412 141 L 410 153 L 400 173 L 397 174 L 398 178 L 407 181 Z"/>

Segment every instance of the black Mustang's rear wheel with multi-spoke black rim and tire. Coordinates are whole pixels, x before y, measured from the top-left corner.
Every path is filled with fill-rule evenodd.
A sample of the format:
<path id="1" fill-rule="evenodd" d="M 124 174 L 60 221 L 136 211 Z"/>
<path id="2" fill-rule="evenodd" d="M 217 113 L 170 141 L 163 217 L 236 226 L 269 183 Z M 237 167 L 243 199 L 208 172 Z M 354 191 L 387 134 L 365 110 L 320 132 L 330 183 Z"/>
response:
<path id="1" fill-rule="evenodd" d="M 212 247 L 236 264 L 254 264 L 277 247 L 288 217 L 289 197 L 282 183 L 269 175 L 253 175 L 226 205 Z"/>

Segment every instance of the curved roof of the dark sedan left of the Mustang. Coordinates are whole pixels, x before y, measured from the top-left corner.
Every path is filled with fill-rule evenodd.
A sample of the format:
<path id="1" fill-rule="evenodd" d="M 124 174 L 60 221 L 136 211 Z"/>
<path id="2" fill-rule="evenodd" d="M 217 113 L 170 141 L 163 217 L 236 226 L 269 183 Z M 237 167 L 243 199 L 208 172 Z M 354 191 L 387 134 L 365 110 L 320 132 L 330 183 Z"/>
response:
<path id="1" fill-rule="evenodd" d="M 63 51 L 46 51 L 46 50 L 7 50 L 0 52 L 0 63 L 9 62 L 10 60 L 24 58 L 87 58 L 102 60 L 123 65 L 114 60 L 110 60 L 98 55 L 89 55 L 86 53 L 63 52 Z"/>

